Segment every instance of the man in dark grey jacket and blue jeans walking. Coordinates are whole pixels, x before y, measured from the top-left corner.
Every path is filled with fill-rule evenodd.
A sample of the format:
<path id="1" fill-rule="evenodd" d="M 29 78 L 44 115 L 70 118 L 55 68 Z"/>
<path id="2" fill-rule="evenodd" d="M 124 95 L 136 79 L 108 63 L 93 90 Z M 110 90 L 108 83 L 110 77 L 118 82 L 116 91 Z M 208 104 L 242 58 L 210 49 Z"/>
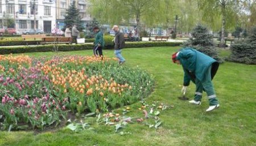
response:
<path id="1" fill-rule="evenodd" d="M 115 38 L 114 38 L 114 53 L 115 56 L 118 58 L 118 62 L 120 65 L 122 65 L 123 63 L 125 63 L 125 58 L 122 57 L 121 52 L 123 47 L 125 47 L 125 38 L 122 32 L 119 31 L 118 25 L 114 25 L 112 28 L 115 32 Z"/>

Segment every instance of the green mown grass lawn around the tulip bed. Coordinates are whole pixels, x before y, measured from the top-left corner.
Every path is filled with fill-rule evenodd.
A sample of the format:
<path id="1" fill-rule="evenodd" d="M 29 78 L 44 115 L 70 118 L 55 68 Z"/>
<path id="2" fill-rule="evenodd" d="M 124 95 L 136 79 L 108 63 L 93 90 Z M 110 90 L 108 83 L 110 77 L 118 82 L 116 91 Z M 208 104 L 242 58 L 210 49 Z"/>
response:
<path id="1" fill-rule="evenodd" d="M 206 113 L 208 100 L 204 93 L 200 106 L 178 100 L 183 83 L 181 66 L 171 62 L 178 47 L 124 49 L 125 66 L 143 68 L 154 75 L 155 91 L 146 101 L 174 105 L 160 114 L 163 124 L 157 130 L 142 124 L 129 124 L 123 129 L 128 135 L 115 134 L 114 127 L 92 124 L 94 131 L 75 133 L 60 128 L 54 132 L 0 132 L 0 145 L 256 145 L 256 66 L 225 62 L 214 78 L 220 108 Z M 27 53 L 34 57 L 56 53 Z M 92 55 L 92 50 L 59 54 Z M 114 57 L 113 50 L 104 54 Z M 221 51 L 221 56 L 229 51 Z M 192 99 L 195 85 L 188 96 Z M 131 117 L 143 115 L 131 105 Z"/>

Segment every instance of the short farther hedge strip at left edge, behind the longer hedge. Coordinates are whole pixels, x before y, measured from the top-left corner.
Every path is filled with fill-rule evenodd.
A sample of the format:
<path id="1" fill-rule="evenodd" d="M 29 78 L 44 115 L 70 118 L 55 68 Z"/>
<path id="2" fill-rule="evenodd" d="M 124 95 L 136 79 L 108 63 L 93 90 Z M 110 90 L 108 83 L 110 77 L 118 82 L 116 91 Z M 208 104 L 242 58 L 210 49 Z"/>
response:
<path id="1" fill-rule="evenodd" d="M 23 40 L 14 40 L 14 41 L 0 41 L 0 46 L 21 46 L 21 45 L 38 45 L 39 41 L 23 41 Z"/>

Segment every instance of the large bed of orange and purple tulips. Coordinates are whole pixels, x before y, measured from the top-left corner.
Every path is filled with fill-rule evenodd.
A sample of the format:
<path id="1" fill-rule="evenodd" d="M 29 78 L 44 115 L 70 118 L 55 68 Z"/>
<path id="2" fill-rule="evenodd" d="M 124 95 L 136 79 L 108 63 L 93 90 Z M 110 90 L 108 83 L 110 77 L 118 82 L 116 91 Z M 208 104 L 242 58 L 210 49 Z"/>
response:
<path id="1" fill-rule="evenodd" d="M 119 66 L 114 58 L 0 55 L 0 122 L 5 130 L 61 123 L 69 112 L 132 104 L 148 96 L 154 80 L 147 72 Z"/>

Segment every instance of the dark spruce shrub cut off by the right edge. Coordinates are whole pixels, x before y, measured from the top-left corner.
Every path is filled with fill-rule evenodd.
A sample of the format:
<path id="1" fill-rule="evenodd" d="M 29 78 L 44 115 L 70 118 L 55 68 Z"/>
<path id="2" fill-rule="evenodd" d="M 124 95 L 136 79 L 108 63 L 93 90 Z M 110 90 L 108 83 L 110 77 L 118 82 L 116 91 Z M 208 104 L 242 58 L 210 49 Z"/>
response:
<path id="1" fill-rule="evenodd" d="M 230 46 L 231 54 L 228 61 L 256 64 L 256 27 L 254 27 L 248 38 L 235 41 Z"/>

